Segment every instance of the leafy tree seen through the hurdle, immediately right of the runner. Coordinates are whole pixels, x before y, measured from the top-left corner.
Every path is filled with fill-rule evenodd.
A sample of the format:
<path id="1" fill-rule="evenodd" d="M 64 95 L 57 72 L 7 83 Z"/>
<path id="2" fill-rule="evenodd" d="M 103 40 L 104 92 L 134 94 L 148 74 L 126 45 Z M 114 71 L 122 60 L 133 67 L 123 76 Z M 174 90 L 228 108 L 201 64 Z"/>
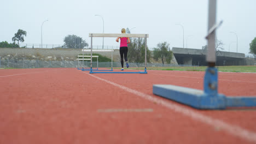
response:
<path id="1" fill-rule="evenodd" d="M 127 58 L 130 62 L 143 63 L 145 62 L 145 39 L 134 38 L 131 43 L 128 44 Z M 147 47 L 147 62 L 150 59 L 150 51 Z"/>

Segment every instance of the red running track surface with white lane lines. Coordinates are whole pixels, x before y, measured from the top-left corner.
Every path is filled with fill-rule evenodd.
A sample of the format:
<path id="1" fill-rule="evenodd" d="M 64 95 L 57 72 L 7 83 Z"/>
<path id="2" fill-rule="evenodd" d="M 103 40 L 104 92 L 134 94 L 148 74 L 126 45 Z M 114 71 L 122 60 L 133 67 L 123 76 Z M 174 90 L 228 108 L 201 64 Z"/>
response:
<path id="1" fill-rule="evenodd" d="M 0 143 L 256 143 L 256 109 L 195 110 L 152 94 L 154 84 L 203 89 L 203 76 L 2 69 Z M 219 93 L 253 96 L 255 85 L 256 74 L 219 73 Z"/>

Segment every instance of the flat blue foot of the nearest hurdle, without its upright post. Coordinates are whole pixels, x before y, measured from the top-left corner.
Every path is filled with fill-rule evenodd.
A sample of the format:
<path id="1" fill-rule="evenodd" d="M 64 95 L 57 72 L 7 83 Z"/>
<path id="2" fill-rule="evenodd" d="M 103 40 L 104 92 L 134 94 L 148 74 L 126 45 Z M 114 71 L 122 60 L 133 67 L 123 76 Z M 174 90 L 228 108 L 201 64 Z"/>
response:
<path id="1" fill-rule="evenodd" d="M 153 85 L 153 93 L 196 109 L 224 110 L 226 107 L 255 107 L 256 97 L 225 97 L 209 95 L 193 88 L 173 85 Z"/>

